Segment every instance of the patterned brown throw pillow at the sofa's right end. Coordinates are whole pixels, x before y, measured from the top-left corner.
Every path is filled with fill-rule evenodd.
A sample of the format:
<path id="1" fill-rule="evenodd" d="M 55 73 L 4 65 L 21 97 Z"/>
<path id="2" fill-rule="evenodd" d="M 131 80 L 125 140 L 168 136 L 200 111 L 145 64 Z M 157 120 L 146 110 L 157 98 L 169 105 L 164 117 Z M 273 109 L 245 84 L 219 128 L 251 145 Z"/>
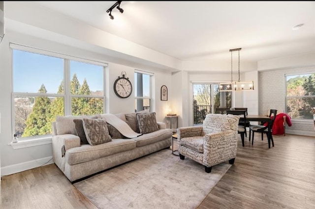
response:
<path id="1" fill-rule="evenodd" d="M 140 133 L 147 134 L 158 130 L 156 113 L 137 114 Z"/>

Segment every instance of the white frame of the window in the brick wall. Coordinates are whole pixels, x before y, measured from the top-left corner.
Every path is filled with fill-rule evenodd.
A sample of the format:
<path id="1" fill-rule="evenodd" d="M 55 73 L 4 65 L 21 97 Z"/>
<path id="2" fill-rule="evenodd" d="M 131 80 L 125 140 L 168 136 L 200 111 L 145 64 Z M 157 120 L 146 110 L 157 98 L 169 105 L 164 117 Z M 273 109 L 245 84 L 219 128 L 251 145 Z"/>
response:
<path id="1" fill-rule="evenodd" d="M 305 95 L 305 96 L 287 96 L 287 77 L 288 76 L 305 76 L 308 74 L 315 74 L 315 71 L 310 71 L 310 72 L 302 72 L 302 73 L 289 73 L 289 74 L 284 74 L 284 83 L 285 83 L 285 92 L 284 92 L 284 100 L 285 100 L 285 108 L 284 108 L 284 113 L 287 113 L 287 103 L 288 99 L 290 98 L 315 98 L 315 95 Z M 290 116 L 291 117 L 291 116 Z M 307 123 L 313 123 L 314 119 L 303 119 L 303 118 L 291 118 L 291 120 L 294 121 L 305 121 Z"/>

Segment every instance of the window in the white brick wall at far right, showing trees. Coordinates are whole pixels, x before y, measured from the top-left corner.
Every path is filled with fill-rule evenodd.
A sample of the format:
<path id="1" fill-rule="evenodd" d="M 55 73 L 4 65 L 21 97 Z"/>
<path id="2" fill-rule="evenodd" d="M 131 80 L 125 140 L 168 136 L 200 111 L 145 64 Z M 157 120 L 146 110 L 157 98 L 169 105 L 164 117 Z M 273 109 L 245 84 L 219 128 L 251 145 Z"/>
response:
<path id="1" fill-rule="evenodd" d="M 286 112 L 292 119 L 313 119 L 315 73 L 286 75 Z"/>

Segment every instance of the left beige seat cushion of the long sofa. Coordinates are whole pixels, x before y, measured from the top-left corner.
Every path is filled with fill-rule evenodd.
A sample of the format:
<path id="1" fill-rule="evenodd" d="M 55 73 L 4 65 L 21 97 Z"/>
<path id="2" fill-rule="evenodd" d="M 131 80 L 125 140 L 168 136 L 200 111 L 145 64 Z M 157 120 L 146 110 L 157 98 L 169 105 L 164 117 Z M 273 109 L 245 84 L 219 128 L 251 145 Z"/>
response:
<path id="1" fill-rule="evenodd" d="M 69 165 L 88 162 L 98 158 L 114 155 L 136 148 L 136 142 L 132 139 L 113 139 L 100 145 L 81 145 L 68 149 L 65 153 L 65 161 Z M 104 164 L 106 162 L 103 162 Z"/>

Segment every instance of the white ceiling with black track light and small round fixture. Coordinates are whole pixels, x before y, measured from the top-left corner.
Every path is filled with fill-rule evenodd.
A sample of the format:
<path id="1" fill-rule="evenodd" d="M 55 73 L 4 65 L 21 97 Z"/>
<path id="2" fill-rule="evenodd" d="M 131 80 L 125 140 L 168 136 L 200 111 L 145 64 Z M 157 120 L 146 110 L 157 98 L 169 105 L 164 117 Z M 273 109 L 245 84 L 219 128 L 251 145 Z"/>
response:
<path id="1" fill-rule="evenodd" d="M 33 1 L 178 60 L 241 61 L 315 52 L 315 1 Z M 304 24 L 299 30 L 292 30 Z"/>

